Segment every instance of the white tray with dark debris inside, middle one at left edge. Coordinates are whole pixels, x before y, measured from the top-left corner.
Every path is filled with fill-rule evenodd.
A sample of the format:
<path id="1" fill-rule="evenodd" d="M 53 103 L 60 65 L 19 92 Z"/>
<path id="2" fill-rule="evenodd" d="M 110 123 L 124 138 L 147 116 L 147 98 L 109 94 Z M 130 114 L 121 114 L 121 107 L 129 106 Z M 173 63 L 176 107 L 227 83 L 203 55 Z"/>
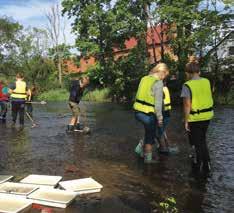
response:
<path id="1" fill-rule="evenodd" d="M 0 193 L 27 196 L 39 187 L 31 184 L 5 182 L 0 184 Z"/>

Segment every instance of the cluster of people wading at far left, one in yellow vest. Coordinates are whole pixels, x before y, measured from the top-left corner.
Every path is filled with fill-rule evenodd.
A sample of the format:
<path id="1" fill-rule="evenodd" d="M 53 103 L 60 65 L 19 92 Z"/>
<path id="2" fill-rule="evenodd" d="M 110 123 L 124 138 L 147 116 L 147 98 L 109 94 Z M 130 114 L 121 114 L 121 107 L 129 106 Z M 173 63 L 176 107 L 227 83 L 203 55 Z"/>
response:
<path id="1" fill-rule="evenodd" d="M 33 107 L 31 101 L 35 91 L 35 86 L 32 86 L 32 88 L 27 86 L 22 73 L 17 73 L 16 81 L 9 85 L 4 81 L 0 81 L 0 120 L 2 123 L 6 122 L 8 103 L 11 101 L 12 125 L 16 124 L 19 116 L 19 124 L 23 127 L 25 106 L 27 106 L 28 115 L 32 117 Z"/>

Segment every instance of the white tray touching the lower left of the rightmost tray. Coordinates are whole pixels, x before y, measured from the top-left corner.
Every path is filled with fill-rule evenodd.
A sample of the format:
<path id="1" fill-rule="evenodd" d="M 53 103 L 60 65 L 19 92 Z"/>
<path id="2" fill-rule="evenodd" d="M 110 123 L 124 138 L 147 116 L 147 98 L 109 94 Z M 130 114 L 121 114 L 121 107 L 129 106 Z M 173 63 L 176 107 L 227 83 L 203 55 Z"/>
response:
<path id="1" fill-rule="evenodd" d="M 28 195 L 27 198 L 35 204 L 66 208 L 76 196 L 74 192 L 60 189 L 38 189 Z"/>

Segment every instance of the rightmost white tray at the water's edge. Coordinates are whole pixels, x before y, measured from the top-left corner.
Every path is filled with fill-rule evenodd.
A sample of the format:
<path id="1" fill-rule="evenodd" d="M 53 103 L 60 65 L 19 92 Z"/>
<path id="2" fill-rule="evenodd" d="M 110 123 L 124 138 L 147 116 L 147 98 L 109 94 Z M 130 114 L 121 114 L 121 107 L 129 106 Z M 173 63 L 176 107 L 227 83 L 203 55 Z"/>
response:
<path id="1" fill-rule="evenodd" d="M 65 190 L 76 192 L 77 194 L 100 192 L 103 188 L 103 186 L 93 178 L 62 181 L 59 183 L 59 186 Z"/>

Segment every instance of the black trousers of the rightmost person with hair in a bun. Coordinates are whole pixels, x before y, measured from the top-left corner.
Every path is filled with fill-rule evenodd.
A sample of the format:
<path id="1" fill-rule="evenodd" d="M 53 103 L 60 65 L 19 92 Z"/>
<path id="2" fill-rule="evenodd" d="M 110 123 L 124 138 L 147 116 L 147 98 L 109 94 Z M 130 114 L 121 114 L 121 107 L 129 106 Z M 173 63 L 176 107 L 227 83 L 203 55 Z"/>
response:
<path id="1" fill-rule="evenodd" d="M 190 122 L 189 142 L 195 146 L 197 164 L 205 166 L 210 162 L 209 150 L 206 143 L 206 132 L 210 121 Z"/>

